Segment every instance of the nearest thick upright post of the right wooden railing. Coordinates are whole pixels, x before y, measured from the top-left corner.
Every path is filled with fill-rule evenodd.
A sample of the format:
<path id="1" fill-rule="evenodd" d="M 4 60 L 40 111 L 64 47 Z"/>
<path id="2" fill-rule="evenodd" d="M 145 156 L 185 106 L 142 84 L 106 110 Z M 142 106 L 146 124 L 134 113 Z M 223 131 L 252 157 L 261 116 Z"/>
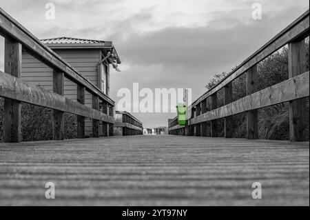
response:
<path id="1" fill-rule="evenodd" d="M 289 43 L 289 78 L 306 72 L 306 44 L 304 39 Z M 289 139 L 307 140 L 307 99 L 289 102 Z"/>

